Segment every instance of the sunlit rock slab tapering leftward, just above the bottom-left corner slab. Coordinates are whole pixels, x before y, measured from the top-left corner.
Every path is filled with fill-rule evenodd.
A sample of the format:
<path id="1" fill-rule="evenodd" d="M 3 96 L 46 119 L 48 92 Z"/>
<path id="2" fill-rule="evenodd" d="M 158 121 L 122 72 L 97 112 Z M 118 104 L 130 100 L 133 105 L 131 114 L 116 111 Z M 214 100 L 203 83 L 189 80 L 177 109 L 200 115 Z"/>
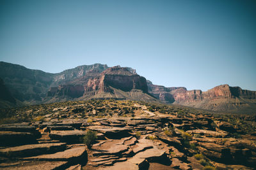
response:
<path id="1" fill-rule="evenodd" d="M 63 152 L 57 152 L 57 153 L 47 154 L 47 155 L 39 155 L 36 157 L 27 157 L 24 159 L 25 160 L 49 160 L 49 161 L 67 160 L 67 161 L 70 161 L 70 160 L 74 160 L 79 157 L 82 157 L 86 153 L 87 153 L 86 148 L 84 146 L 80 146 L 77 148 L 71 148 L 71 149 L 65 150 Z"/>

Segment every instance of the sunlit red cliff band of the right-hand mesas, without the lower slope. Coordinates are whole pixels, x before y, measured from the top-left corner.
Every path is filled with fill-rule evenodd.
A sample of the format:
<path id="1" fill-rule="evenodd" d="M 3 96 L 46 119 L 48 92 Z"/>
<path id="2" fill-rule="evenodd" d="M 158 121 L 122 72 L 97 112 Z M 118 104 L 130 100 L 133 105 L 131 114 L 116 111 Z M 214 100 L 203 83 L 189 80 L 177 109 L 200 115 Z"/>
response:
<path id="1" fill-rule="evenodd" d="M 187 90 L 185 87 L 164 87 L 153 85 L 147 81 L 148 92 L 164 103 L 191 104 L 199 101 L 214 101 L 218 99 L 256 99 L 256 92 L 243 90 L 240 87 L 230 87 L 229 85 L 219 85 L 213 89 L 202 92 L 202 90 Z"/>

